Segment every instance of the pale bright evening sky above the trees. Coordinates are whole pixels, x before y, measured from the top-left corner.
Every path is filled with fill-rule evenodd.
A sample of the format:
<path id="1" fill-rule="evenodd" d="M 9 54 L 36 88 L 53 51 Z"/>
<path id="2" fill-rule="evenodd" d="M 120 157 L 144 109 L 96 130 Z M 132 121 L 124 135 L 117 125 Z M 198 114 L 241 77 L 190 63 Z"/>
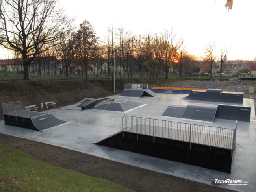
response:
<path id="1" fill-rule="evenodd" d="M 256 0 L 234 0 L 230 11 L 225 3 L 226 0 L 59 0 L 58 6 L 75 18 L 75 26 L 88 20 L 102 40 L 112 26 L 114 30 L 122 26 L 133 35 L 173 29 L 177 37 L 183 38 L 185 50 L 199 58 L 204 57 L 206 46 L 215 42 L 217 56 L 221 47 L 226 47 L 230 50 L 228 60 L 253 60 Z"/>

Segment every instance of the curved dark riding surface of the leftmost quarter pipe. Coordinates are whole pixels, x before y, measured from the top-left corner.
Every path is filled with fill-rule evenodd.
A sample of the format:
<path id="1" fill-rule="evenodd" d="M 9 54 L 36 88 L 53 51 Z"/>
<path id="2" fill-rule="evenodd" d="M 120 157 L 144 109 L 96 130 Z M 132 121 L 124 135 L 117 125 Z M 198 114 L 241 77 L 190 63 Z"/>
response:
<path id="1" fill-rule="evenodd" d="M 56 126 L 61 126 L 63 124 L 68 123 L 67 121 L 60 120 L 56 117 L 54 117 L 52 114 L 45 114 L 42 116 L 37 116 L 31 118 L 34 126 L 39 131 L 44 131 L 45 129 L 49 129 Z"/>

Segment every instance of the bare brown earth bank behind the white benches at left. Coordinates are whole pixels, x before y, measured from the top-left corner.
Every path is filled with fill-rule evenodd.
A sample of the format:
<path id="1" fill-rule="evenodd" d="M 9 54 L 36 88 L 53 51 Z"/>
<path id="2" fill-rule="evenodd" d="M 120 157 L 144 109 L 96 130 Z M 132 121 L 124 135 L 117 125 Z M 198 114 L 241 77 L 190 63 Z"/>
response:
<path id="1" fill-rule="evenodd" d="M 84 80 L 2 81 L 0 82 L 0 103 L 20 100 L 23 105 L 39 106 L 40 103 L 54 101 L 57 103 L 56 107 L 61 107 L 86 97 L 99 98 L 111 95 L 110 86 L 104 81 L 86 83 Z M 1 119 L 3 119 L 2 106 L 0 107 Z"/>

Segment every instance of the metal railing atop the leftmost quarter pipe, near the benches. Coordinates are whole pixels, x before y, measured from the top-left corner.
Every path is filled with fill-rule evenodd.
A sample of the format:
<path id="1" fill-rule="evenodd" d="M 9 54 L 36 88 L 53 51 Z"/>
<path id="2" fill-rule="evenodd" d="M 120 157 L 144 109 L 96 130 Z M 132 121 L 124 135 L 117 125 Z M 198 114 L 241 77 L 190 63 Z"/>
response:
<path id="1" fill-rule="evenodd" d="M 20 115 L 31 118 L 30 109 L 26 108 L 26 106 L 23 106 L 21 101 L 3 103 L 2 107 L 3 107 L 3 114 L 14 115 L 16 116 L 16 118 L 17 116 L 20 116 Z M 23 113 L 20 113 L 21 111 Z"/>

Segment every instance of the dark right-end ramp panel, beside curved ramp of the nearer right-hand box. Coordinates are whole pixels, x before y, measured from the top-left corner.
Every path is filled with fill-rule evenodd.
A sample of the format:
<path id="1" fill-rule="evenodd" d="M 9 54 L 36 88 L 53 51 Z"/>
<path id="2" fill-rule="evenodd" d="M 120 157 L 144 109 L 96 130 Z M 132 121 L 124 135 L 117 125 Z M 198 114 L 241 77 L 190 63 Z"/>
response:
<path id="1" fill-rule="evenodd" d="M 219 105 L 215 118 L 250 122 L 250 107 Z"/>

